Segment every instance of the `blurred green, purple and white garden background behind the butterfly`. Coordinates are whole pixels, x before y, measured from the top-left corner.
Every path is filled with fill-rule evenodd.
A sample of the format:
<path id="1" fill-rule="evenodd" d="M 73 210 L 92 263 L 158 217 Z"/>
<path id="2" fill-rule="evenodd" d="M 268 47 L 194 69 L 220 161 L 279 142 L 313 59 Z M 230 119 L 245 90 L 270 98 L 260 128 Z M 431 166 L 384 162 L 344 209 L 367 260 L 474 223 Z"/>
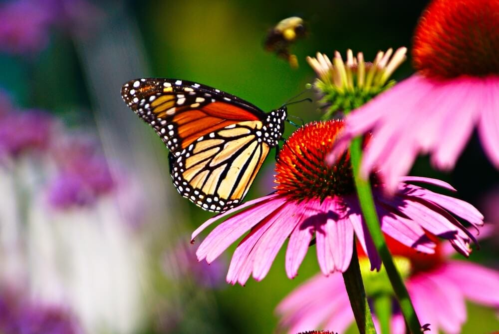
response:
<path id="1" fill-rule="evenodd" d="M 313 82 L 307 55 L 410 48 L 426 3 L 0 1 L 0 333 L 275 332 L 277 303 L 318 272 L 314 252 L 296 279 L 281 252 L 245 287 L 225 283 L 234 247 L 198 264 L 190 234 L 212 214 L 177 194 L 167 149 L 123 103 L 121 85 L 187 79 L 269 111 Z M 309 31 L 291 48 L 297 69 L 263 48 L 268 29 L 292 15 Z M 411 73 L 409 57 L 394 78 Z M 321 115 L 306 102 L 289 113 Z M 247 198 L 272 191 L 273 164 L 271 153 Z M 476 137 L 451 173 L 422 157 L 412 174 L 450 182 L 499 223 L 499 175 Z M 471 260 L 497 268 L 498 245 L 495 234 Z M 499 329 L 494 310 L 468 312 L 463 333 Z"/>

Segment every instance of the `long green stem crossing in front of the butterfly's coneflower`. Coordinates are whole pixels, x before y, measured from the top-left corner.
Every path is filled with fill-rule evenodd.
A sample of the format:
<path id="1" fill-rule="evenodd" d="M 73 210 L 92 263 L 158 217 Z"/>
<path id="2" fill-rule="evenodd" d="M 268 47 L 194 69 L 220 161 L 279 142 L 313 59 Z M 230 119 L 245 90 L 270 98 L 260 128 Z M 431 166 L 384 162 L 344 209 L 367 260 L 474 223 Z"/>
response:
<path id="1" fill-rule="evenodd" d="M 400 305 L 402 315 L 406 321 L 408 329 L 413 334 L 421 333 L 421 325 L 419 323 L 416 312 L 412 305 L 409 293 L 393 263 L 392 256 L 386 246 L 385 237 L 381 231 L 381 224 L 379 223 L 376 209 L 374 206 L 374 199 L 369 180 L 364 180 L 360 176 L 360 161 L 362 159 L 362 138 L 357 137 L 352 140 L 350 144 L 350 157 L 353 169 L 353 176 L 355 180 L 355 187 L 357 188 L 357 195 L 362 209 L 362 214 L 366 222 L 369 233 L 373 238 L 374 245 L 378 251 L 383 265 L 385 266 L 388 278 L 392 284 L 393 291 Z"/>

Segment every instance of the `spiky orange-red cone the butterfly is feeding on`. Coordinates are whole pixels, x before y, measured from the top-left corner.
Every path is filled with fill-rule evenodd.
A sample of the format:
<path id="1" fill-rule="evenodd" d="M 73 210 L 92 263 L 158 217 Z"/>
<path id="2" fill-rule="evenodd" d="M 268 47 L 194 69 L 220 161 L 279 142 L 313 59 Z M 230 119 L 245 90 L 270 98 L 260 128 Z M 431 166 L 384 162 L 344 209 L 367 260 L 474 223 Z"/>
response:
<path id="1" fill-rule="evenodd" d="M 330 120 L 312 122 L 296 130 L 277 159 L 274 180 L 277 192 L 299 200 L 353 193 L 348 153 L 334 165 L 325 161 L 342 128 L 343 121 Z"/>

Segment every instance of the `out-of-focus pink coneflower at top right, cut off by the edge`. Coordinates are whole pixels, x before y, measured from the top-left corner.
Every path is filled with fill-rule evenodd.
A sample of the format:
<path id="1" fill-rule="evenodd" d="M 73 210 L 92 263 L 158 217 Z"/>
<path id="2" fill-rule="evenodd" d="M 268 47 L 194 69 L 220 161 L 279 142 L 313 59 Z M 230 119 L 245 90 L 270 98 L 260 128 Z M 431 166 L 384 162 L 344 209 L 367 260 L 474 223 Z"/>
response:
<path id="1" fill-rule="evenodd" d="M 498 0 L 430 3 L 414 36 L 417 72 L 346 118 L 346 140 L 373 134 L 364 177 L 376 169 L 393 191 L 419 153 L 452 169 L 475 126 L 499 169 L 498 12 Z"/>

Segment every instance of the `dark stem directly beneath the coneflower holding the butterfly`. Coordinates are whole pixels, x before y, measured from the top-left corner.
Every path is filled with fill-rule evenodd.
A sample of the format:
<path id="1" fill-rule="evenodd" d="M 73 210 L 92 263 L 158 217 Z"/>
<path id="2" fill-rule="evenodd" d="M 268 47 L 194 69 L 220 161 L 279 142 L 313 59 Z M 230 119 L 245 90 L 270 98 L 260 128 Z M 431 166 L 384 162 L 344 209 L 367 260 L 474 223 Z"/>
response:
<path id="1" fill-rule="evenodd" d="M 346 292 L 350 299 L 350 305 L 352 306 L 359 333 L 375 334 L 376 329 L 374 328 L 371 310 L 369 309 L 364 284 L 362 283 L 359 258 L 355 244 L 353 246 L 352 261 L 350 261 L 350 266 L 343 273 L 343 280 L 345 281 Z"/>

